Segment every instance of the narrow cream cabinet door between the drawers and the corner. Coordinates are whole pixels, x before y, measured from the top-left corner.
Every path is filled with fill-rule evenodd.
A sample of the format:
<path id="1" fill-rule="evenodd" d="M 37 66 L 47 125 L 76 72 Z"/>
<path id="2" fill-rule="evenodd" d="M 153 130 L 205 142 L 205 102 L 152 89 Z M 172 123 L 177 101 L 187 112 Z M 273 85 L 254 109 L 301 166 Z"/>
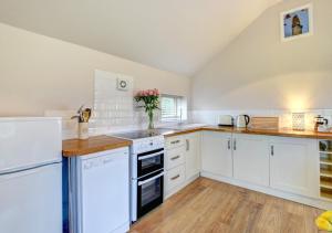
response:
<path id="1" fill-rule="evenodd" d="M 200 171 L 200 133 L 185 135 L 186 141 L 186 179 L 190 179 Z"/>

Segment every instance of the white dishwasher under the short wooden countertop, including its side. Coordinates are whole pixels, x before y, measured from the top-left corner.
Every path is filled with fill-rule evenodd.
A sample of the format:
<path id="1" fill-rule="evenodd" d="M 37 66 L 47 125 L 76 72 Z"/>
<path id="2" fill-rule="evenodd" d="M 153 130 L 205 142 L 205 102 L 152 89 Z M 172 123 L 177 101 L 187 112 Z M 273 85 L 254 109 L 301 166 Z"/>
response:
<path id="1" fill-rule="evenodd" d="M 128 148 L 70 160 L 71 233 L 129 230 Z"/>

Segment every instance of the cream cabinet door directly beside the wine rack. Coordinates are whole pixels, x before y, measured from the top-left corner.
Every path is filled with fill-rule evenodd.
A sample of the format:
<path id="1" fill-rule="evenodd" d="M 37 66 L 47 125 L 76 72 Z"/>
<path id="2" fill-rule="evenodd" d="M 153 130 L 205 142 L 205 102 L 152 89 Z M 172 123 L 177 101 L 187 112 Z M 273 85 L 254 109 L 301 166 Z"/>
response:
<path id="1" fill-rule="evenodd" d="M 319 197 L 317 140 L 273 138 L 271 141 L 271 187 L 297 194 Z"/>

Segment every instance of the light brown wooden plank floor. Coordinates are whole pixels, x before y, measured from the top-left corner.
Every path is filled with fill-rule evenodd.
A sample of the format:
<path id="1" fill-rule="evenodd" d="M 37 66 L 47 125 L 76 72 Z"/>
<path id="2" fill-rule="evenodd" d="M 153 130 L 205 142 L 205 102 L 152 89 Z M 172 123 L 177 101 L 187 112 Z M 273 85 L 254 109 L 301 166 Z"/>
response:
<path id="1" fill-rule="evenodd" d="M 131 232 L 319 232 L 322 211 L 199 178 L 141 219 Z"/>

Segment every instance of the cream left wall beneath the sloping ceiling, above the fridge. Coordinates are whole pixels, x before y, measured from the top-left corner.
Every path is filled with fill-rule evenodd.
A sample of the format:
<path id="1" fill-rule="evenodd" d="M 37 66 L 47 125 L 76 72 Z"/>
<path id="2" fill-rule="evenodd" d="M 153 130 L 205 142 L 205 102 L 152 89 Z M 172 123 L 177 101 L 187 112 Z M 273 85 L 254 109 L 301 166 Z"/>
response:
<path id="1" fill-rule="evenodd" d="M 0 23 L 0 116 L 92 105 L 96 68 L 133 76 L 134 89 L 189 97 L 186 76 Z"/>

